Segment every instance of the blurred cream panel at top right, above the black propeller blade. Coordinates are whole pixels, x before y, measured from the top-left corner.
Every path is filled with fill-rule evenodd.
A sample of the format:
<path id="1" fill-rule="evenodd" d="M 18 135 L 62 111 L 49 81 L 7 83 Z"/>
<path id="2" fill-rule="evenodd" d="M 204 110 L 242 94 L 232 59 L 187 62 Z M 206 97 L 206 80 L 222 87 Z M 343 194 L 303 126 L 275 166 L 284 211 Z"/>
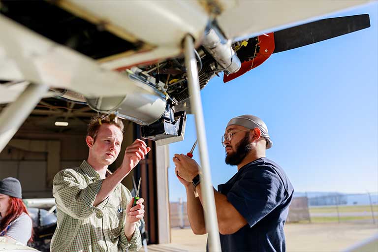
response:
<path id="1" fill-rule="evenodd" d="M 234 41 L 320 19 L 368 0 L 239 0 L 217 17 L 225 36 Z M 237 24 L 237 25 L 236 25 Z"/>

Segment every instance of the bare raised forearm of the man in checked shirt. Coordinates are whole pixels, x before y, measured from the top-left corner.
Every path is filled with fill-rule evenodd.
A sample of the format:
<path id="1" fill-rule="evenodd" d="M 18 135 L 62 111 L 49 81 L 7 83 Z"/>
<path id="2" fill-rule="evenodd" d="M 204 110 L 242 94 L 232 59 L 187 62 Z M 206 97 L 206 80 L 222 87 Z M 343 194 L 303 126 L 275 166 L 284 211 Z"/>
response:
<path id="1" fill-rule="evenodd" d="M 104 201 L 119 183 L 127 176 L 126 172 L 122 168 L 118 168 L 113 174 L 109 175 L 102 181 L 101 189 L 97 193 L 94 206 L 97 206 Z"/>

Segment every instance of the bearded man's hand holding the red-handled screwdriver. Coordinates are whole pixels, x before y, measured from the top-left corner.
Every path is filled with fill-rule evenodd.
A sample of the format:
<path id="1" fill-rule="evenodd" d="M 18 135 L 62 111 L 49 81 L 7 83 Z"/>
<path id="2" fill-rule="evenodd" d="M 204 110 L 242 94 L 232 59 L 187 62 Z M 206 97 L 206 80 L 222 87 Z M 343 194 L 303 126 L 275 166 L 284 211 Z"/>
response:
<path id="1" fill-rule="evenodd" d="M 175 172 L 179 180 L 181 178 L 190 183 L 199 172 L 200 167 L 198 163 L 194 159 L 191 159 L 184 154 L 175 154 L 175 157 L 173 157 L 173 162 L 176 165 Z M 181 180 L 180 182 L 183 183 Z"/>

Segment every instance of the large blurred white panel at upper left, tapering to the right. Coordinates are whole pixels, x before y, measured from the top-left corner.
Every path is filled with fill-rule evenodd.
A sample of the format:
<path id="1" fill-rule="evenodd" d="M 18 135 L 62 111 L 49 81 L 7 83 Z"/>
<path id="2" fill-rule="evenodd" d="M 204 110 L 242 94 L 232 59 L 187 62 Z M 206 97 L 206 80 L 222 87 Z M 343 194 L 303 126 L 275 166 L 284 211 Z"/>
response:
<path id="1" fill-rule="evenodd" d="M 0 79 L 46 83 L 88 97 L 150 94 L 148 86 L 135 85 L 126 75 L 106 70 L 2 15 L 0 30 L 7 34 L 0 37 L 0 66 L 8 66 L 0 67 Z"/>

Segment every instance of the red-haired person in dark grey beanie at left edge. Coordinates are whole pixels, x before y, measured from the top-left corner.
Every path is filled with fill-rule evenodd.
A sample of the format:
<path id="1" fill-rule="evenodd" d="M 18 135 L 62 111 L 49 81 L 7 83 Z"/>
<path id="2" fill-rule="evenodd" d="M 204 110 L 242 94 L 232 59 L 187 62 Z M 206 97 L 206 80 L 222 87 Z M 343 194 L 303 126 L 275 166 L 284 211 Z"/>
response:
<path id="1" fill-rule="evenodd" d="M 22 201 L 21 184 L 18 179 L 0 181 L 0 236 L 24 245 L 32 242 L 32 219 Z"/>

